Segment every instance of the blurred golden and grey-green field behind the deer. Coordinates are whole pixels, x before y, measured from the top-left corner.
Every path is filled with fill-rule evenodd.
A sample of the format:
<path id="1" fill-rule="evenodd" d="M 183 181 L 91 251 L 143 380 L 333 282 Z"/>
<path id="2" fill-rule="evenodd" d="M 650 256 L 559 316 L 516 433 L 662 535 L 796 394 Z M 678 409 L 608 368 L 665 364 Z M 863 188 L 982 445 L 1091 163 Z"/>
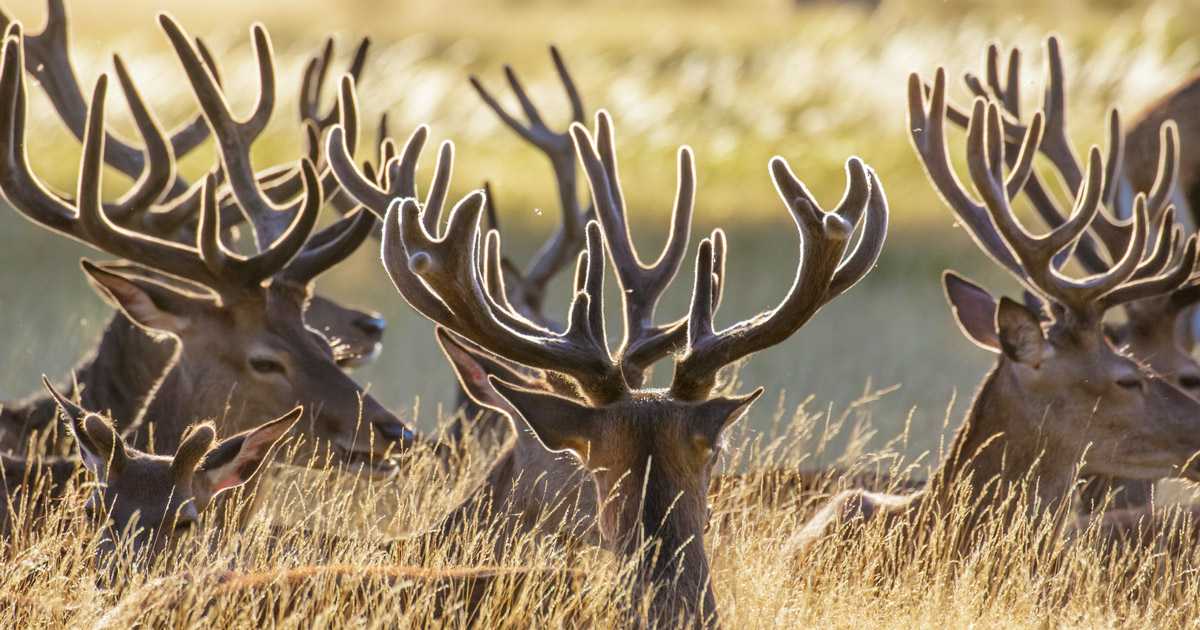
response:
<path id="1" fill-rule="evenodd" d="M 6 0 L 4 6 L 31 31 L 40 29 L 44 13 L 40 0 Z M 1009 294 L 1015 283 L 954 227 L 929 186 L 905 128 L 908 73 L 931 77 L 937 65 L 946 65 L 955 82 L 953 96 L 965 102 L 956 77 L 965 70 L 982 71 L 985 44 L 995 40 L 1020 46 L 1026 53 L 1025 107 L 1032 112 L 1040 86 L 1042 42 L 1049 32 L 1058 32 L 1066 44 L 1073 139 L 1084 146 L 1103 142 L 1110 106 L 1136 112 L 1200 67 L 1200 11 L 1194 0 L 883 0 L 874 10 L 776 0 L 137 0 L 74 2 L 70 8 L 72 54 L 82 83 L 90 85 L 98 73 L 110 71 L 110 55 L 120 52 L 166 126 L 192 116 L 196 106 L 155 12 L 172 12 L 212 47 L 238 112 L 248 112 L 254 100 L 247 29 L 253 20 L 263 22 L 275 46 L 280 104 L 254 148 L 259 168 L 299 156 L 295 91 L 302 64 L 324 37 L 332 34 L 338 42 L 337 70 L 348 62 L 358 37 L 370 35 L 373 46 L 359 84 L 365 121 L 373 125 L 380 112 L 388 112 L 396 137 L 427 122 L 431 140 L 452 139 L 457 149 L 452 198 L 490 179 L 505 226 L 505 248 L 518 262 L 527 260 L 556 224 L 550 167 L 482 106 L 467 77 L 479 74 L 515 112 L 502 71 L 503 64 L 511 64 L 547 121 L 563 126 L 568 110 L 547 54 L 554 43 L 589 112 L 604 107 L 613 114 L 622 184 L 643 258 L 653 259 L 665 236 L 676 149 L 680 144 L 695 149 L 698 198 L 692 250 L 716 226 L 731 236 L 728 287 L 719 313 L 724 324 L 773 307 L 794 274 L 794 229 L 767 176 L 767 160 L 786 157 L 832 208 L 845 186 L 845 160 L 860 156 L 880 173 L 892 208 L 880 265 L 790 341 L 751 359 L 740 378 L 745 389 L 763 385 L 769 392 L 751 413 L 756 427 L 769 426 L 784 391 L 786 409 L 811 396 L 810 410 L 832 406 L 836 415 L 868 384 L 876 389 L 899 384 L 870 409 L 878 440 L 900 433 L 912 413 L 912 452 L 937 448 L 947 414 L 955 426 L 992 362 L 952 322 L 941 295 L 941 271 L 954 268 Z M 29 150 L 35 169 L 53 185 L 71 190 L 78 145 L 34 92 Z M 326 98 L 331 94 L 326 89 Z M 110 122 L 134 137 L 119 101 L 109 100 Z M 961 134 L 952 136 L 952 155 L 961 163 Z M 373 127 L 366 137 L 373 138 Z M 432 169 L 432 155 L 430 145 L 424 176 Z M 203 146 L 181 168 L 197 176 L 212 160 L 211 148 Z M 127 185 L 116 175 L 107 180 L 113 196 Z M 55 378 L 66 374 L 94 343 L 108 310 L 78 270 L 82 256 L 96 253 L 12 211 L 0 212 L 4 397 L 36 391 L 43 372 Z M 680 278 L 672 288 L 660 308 L 662 319 L 683 312 L 689 283 L 690 278 Z M 452 377 L 432 325 L 388 281 L 378 244 L 368 241 L 324 277 L 319 289 L 388 316 L 383 355 L 355 376 L 409 416 L 419 400 L 419 424 L 432 426 L 433 409 L 454 400 Z M 566 301 L 563 281 L 557 283 L 552 311 L 562 313 Z M 616 295 L 607 302 L 616 305 Z M 610 326 L 616 341 L 614 329 Z M 655 380 L 668 376 L 664 365 Z"/>

